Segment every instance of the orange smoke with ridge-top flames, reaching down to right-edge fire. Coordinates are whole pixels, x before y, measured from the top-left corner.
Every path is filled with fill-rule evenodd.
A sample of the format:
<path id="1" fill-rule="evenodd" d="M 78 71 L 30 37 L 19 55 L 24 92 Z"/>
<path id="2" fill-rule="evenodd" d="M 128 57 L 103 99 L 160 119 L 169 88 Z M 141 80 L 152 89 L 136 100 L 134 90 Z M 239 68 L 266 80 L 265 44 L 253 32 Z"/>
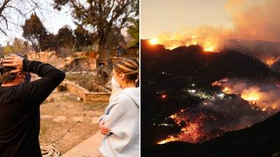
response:
<path id="1" fill-rule="evenodd" d="M 165 45 L 169 50 L 180 46 L 200 45 L 204 52 L 221 52 L 224 48 L 230 48 L 250 54 L 271 67 L 279 59 L 280 53 L 280 22 L 275 20 L 275 15 L 279 15 L 279 6 L 280 2 L 277 0 L 253 5 L 249 0 L 228 0 L 225 9 L 230 13 L 231 27 L 204 25 L 165 32 L 153 38 L 152 44 L 156 40 L 156 43 Z"/>

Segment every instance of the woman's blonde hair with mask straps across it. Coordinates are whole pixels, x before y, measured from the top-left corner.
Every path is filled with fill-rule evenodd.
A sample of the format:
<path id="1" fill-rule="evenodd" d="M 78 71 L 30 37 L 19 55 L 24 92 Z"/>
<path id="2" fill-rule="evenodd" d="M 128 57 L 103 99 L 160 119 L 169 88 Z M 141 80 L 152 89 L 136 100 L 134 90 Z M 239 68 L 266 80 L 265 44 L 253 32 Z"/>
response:
<path id="1" fill-rule="evenodd" d="M 125 79 L 139 87 L 139 62 L 136 59 L 123 59 L 113 65 L 116 73 L 125 74 Z"/>

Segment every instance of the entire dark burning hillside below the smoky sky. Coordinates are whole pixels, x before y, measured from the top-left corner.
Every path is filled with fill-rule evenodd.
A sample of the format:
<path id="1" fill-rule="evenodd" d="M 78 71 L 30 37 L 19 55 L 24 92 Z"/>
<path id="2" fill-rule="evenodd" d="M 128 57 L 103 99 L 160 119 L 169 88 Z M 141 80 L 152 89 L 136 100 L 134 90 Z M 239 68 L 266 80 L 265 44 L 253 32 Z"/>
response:
<path id="1" fill-rule="evenodd" d="M 142 156 L 280 151 L 280 75 L 266 63 L 235 49 L 169 50 L 151 40 L 141 40 L 141 58 Z"/>

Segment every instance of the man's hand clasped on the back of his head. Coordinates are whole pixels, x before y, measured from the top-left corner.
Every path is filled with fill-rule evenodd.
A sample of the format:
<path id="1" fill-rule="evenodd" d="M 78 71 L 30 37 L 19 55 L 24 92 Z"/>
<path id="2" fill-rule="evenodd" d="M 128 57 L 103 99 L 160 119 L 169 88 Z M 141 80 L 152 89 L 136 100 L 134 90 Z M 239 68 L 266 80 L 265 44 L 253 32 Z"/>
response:
<path id="1" fill-rule="evenodd" d="M 15 67 L 15 70 L 11 70 L 10 73 L 19 73 L 23 69 L 23 58 L 15 54 L 10 54 L 4 57 L 3 66 Z"/>

